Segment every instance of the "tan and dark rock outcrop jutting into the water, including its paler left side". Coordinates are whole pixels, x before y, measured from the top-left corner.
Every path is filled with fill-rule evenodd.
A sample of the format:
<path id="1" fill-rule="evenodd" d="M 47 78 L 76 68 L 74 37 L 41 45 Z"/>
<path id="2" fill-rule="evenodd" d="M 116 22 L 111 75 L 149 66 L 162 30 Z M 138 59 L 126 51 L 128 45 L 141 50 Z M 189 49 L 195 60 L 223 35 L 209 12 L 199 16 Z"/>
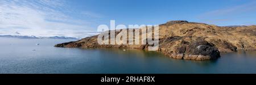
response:
<path id="1" fill-rule="evenodd" d="M 176 39 L 176 41 L 179 41 L 179 39 Z M 164 47 L 171 47 L 171 45 L 172 44 Z M 181 40 L 179 47 L 175 49 L 167 49 L 167 51 L 165 48 L 163 48 L 163 51 L 161 52 L 165 55 L 170 55 L 169 57 L 175 59 L 210 60 L 220 57 L 220 52 L 214 47 L 214 44 L 204 40 L 192 41 L 191 43 Z"/>

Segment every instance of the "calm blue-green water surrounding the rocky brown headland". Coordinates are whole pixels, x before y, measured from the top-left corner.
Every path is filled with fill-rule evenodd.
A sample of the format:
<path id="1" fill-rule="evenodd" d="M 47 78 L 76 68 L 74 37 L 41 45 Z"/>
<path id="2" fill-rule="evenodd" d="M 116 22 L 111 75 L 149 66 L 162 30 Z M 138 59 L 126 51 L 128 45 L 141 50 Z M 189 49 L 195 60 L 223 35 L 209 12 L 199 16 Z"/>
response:
<path id="1" fill-rule="evenodd" d="M 256 51 L 194 61 L 171 59 L 154 51 L 53 47 L 72 39 L 0 41 L 0 73 L 256 73 Z"/>

